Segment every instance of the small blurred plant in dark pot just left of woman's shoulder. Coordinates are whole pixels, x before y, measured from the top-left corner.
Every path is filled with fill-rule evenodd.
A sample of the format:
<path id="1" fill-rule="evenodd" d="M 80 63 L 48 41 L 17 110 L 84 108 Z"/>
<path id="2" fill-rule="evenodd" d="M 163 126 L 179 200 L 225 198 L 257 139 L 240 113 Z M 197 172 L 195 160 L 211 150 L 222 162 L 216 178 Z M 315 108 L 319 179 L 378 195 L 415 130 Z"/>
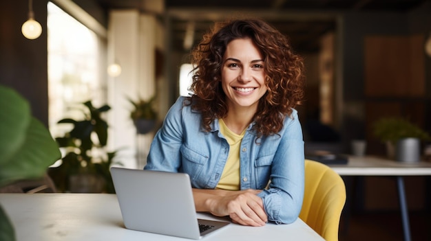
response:
<path id="1" fill-rule="evenodd" d="M 136 127 L 138 134 L 147 134 L 156 127 L 157 112 L 154 109 L 154 102 L 156 96 L 152 96 L 149 100 L 143 100 L 139 98 L 138 101 L 134 101 L 127 98 L 129 102 L 134 106 L 130 112 L 130 117 Z"/>

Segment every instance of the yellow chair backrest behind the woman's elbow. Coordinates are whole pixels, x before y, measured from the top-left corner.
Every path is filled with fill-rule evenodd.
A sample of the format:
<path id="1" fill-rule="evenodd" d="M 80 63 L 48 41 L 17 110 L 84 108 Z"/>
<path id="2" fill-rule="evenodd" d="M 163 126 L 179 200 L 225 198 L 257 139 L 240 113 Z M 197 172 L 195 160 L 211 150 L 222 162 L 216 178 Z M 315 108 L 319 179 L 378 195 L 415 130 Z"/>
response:
<path id="1" fill-rule="evenodd" d="M 304 201 L 299 218 L 326 241 L 336 241 L 344 203 L 346 186 L 341 176 L 323 163 L 305 160 Z"/>

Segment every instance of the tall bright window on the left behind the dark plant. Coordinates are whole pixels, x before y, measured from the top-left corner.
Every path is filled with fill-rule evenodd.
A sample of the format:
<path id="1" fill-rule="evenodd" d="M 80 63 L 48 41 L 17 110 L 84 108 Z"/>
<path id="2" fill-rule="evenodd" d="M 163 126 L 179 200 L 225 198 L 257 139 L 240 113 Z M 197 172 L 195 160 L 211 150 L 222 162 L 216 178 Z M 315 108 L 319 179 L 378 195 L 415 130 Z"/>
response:
<path id="1" fill-rule="evenodd" d="M 48 2 L 48 97 L 49 126 L 54 137 L 65 133 L 57 122 L 65 117 L 81 118 L 76 106 L 92 100 L 95 106 L 105 104 L 106 88 L 101 71 L 103 41 L 61 10 Z"/>

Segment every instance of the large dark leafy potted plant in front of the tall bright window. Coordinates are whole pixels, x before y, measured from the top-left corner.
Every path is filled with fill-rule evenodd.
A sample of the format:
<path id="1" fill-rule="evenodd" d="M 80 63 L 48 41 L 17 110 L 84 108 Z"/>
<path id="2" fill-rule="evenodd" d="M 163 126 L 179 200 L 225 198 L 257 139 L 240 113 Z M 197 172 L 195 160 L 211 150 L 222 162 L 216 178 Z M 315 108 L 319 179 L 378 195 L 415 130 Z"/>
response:
<path id="1" fill-rule="evenodd" d="M 114 184 L 109 172 L 116 152 L 107 152 L 108 124 L 103 113 L 110 107 L 100 108 L 91 101 L 83 103 L 81 120 L 61 119 L 59 124 L 72 124 L 70 132 L 56 141 L 65 154 L 59 167 L 51 168 L 50 176 L 63 192 L 107 192 L 114 193 Z"/>

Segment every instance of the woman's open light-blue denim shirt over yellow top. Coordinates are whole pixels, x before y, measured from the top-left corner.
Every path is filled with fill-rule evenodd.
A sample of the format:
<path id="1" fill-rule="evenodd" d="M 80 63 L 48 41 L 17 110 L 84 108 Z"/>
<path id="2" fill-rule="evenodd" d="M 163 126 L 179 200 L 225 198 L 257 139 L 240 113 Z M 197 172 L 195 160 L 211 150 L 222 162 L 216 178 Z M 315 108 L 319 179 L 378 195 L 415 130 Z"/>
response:
<path id="1" fill-rule="evenodd" d="M 218 119 L 210 132 L 203 131 L 200 113 L 184 106 L 184 100 L 179 97 L 169 109 L 151 143 L 144 169 L 185 172 L 192 187 L 214 189 L 227 161 L 229 144 L 220 133 Z M 252 126 L 241 142 L 240 188 L 262 190 L 258 196 L 269 220 L 291 223 L 297 219 L 304 197 L 304 141 L 297 111 L 284 119 L 277 135 L 256 140 Z"/>

